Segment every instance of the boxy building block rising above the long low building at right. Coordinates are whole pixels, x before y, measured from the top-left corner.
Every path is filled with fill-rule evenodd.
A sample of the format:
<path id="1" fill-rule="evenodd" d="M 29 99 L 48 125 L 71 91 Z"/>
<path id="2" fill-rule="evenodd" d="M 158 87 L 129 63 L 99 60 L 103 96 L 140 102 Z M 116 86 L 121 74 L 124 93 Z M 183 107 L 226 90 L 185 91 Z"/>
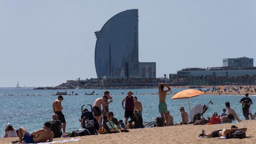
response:
<path id="1" fill-rule="evenodd" d="M 232 68 L 248 68 L 253 67 L 253 59 L 246 57 L 235 58 L 235 59 L 223 59 L 223 67 L 232 67 Z"/>

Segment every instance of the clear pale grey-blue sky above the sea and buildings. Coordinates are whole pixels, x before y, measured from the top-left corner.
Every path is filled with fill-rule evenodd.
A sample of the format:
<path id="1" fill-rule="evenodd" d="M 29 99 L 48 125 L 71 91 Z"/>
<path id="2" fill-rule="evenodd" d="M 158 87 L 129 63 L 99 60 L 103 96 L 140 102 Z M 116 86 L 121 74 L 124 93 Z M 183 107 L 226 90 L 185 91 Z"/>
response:
<path id="1" fill-rule="evenodd" d="M 255 58 L 255 7 L 254 0 L 1 0 L 0 87 L 97 78 L 94 32 L 129 9 L 139 9 L 139 61 L 156 62 L 156 77 Z"/>

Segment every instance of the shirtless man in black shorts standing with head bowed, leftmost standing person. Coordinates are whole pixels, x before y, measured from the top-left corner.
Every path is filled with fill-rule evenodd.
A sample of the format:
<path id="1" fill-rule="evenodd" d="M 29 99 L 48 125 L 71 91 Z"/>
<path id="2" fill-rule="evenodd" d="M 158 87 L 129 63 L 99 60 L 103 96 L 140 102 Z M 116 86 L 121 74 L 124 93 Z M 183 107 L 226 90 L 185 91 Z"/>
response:
<path id="1" fill-rule="evenodd" d="M 63 133 L 66 132 L 66 120 L 64 115 L 62 114 L 62 109 L 63 106 L 61 106 L 61 101 L 63 100 L 63 97 L 61 95 L 58 96 L 57 100 L 54 100 L 52 103 L 52 108 L 53 108 L 53 112 L 54 114 L 58 115 L 59 120 L 61 121 L 61 123 L 63 123 Z"/>

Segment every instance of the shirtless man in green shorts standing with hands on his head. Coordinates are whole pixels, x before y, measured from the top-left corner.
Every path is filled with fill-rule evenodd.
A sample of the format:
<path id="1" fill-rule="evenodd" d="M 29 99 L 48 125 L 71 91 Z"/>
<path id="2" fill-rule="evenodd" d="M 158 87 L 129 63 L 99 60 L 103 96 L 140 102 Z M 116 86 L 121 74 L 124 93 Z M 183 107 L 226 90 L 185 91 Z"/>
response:
<path id="1" fill-rule="evenodd" d="M 164 86 L 168 88 L 168 90 L 164 90 Z M 166 93 L 171 90 L 171 88 L 168 86 L 167 83 L 165 84 L 159 84 L 158 85 L 158 90 L 159 90 L 159 104 L 158 104 L 158 109 L 159 112 L 163 118 L 163 126 L 165 124 L 165 118 L 166 118 L 166 126 L 169 126 L 168 124 L 168 116 L 167 116 L 167 105 L 165 103 L 165 98 L 166 98 Z M 165 116 L 165 118 L 164 118 Z"/>

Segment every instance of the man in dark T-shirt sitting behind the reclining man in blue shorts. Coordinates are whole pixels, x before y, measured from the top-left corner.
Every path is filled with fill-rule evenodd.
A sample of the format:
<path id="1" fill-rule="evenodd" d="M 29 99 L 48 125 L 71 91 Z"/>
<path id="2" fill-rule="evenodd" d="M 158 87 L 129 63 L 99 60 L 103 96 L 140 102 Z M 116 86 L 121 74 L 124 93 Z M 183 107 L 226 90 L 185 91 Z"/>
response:
<path id="1" fill-rule="evenodd" d="M 54 137 L 53 138 L 60 138 L 62 135 L 61 129 L 62 129 L 62 124 L 61 121 L 58 120 L 58 115 L 53 114 L 52 115 L 52 120 L 49 121 L 51 123 L 51 128 L 50 130 L 53 132 Z"/>

